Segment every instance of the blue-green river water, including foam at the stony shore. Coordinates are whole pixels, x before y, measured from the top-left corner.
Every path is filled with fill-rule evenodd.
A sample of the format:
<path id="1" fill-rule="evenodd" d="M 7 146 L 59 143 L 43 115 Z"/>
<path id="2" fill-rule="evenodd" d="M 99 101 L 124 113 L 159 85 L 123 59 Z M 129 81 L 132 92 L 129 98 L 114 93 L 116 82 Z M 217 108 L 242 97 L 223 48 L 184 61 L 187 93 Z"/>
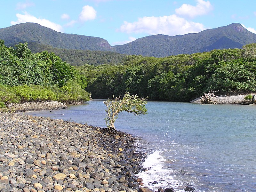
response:
<path id="1" fill-rule="evenodd" d="M 145 180 L 163 180 L 159 186 L 178 191 L 186 185 L 197 191 L 256 191 L 256 106 L 148 102 L 146 107 L 147 115 L 122 112 L 115 123 L 117 130 L 142 137 L 145 150 L 155 151 L 146 159 L 156 163 Z M 106 127 L 105 109 L 97 100 L 26 114 Z"/>

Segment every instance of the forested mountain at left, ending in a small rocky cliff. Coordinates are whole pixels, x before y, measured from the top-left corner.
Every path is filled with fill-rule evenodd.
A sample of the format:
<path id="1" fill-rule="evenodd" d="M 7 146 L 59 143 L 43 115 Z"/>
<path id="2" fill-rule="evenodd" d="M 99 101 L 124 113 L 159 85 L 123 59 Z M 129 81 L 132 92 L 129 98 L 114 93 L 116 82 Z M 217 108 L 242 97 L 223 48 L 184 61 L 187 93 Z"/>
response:
<path id="1" fill-rule="evenodd" d="M 107 40 L 100 37 L 60 33 L 37 23 L 20 23 L 0 28 L 0 39 L 4 40 L 6 46 L 13 46 L 19 42 L 35 42 L 63 49 L 114 50 Z"/>

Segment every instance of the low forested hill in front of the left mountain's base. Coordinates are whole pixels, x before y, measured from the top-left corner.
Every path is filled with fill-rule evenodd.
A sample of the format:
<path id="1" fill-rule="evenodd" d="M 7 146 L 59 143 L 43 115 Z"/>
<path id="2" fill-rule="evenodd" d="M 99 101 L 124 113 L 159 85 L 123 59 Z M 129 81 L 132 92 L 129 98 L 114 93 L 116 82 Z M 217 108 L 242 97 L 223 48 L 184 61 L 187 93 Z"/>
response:
<path id="1" fill-rule="evenodd" d="M 89 65 L 102 65 L 110 64 L 115 65 L 122 61 L 124 54 L 110 52 L 110 51 L 89 51 L 89 50 L 75 50 L 75 49 L 60 49 L 50 45 L 42 45 L 35 42 L 28 43 L 28 47 L 32 52 L 54 52 L 63 61 L 66 61 L 72 66 Z"/>

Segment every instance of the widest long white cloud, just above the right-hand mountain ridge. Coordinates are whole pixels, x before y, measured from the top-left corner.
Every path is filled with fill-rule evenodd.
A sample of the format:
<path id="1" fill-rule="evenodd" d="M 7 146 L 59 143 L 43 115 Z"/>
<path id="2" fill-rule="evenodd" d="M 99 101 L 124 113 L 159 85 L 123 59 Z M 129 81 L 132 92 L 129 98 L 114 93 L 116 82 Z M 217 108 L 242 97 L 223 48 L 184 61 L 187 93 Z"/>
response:
<path id="1" fill-rule="evenodd" d="M 121 32 L 126 33 L 147 33 L 150 35 L 164 34 L 169 36 L 197 33 L 204 30 L 204 25 L 187 21 L 177 15 L 162 17 L 143 17 L 138 21 L 124 24 L 120 27 Z"/>

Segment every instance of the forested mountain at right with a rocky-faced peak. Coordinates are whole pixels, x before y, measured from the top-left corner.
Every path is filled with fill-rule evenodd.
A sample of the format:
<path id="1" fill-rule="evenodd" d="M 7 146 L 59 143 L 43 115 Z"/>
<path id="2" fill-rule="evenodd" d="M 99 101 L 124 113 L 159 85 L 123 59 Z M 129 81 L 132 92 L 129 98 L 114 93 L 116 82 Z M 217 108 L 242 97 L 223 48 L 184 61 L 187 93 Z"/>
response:
<path id="1" fill-rule="evenodd" d="M 213 49 L 242 48 L 243 45 L 250 43 L 256 43 L 256 34 L 246 30 L 239 23 L 233 23 L 199 33 L 142 37 L 131 43 L 114 47 L 119 53 L 165 57 Z"/>

